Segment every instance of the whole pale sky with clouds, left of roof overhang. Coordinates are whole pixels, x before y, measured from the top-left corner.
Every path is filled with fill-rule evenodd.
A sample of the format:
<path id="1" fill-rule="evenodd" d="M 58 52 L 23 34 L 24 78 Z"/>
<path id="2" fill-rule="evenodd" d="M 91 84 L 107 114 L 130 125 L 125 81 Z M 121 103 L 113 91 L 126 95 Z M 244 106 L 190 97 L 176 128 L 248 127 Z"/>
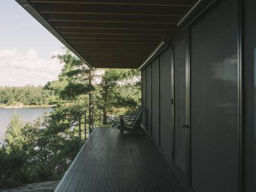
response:
<path id="1" fill-rule="evenodd" d="M 51 56 L 64 45 L 15 0 L 1 0 L 0 18 L 0 86 L 57 80 L 62 65 Z"/>

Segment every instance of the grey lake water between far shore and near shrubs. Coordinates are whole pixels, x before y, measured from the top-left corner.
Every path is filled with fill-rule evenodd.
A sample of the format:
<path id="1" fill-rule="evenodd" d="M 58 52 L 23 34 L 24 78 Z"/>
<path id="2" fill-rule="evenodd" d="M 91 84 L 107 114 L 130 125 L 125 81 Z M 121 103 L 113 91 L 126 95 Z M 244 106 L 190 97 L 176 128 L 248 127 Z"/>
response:
<path id="1" fill-rule="evenodd" d="M 52 110 L 48 108 L 0 108 L 0 143 L 3 141 L 3 136 L 6 131 L 10 118 L 14 113 L 20 115 L 24 121 L 36 120 L 37 117 L 43 115 L 44 112 L 49 113 Z"/>

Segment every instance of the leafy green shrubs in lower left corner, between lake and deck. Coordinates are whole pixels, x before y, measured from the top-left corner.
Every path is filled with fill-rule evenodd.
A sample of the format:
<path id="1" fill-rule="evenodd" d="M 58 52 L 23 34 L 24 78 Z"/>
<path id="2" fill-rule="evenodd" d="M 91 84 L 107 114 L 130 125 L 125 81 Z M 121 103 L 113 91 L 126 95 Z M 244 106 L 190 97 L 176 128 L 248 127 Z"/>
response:
<path id="1" fill-rule="evenodd" d="M 0 148 L 0 187 L 59 180 L 78 152 L 77 135 L 48 134 L 46 115 L 33 123 L 17 122 L 22 120 L 14 115 L 9 125 L 11 131 L 6 132 L 5 143 Z"/>

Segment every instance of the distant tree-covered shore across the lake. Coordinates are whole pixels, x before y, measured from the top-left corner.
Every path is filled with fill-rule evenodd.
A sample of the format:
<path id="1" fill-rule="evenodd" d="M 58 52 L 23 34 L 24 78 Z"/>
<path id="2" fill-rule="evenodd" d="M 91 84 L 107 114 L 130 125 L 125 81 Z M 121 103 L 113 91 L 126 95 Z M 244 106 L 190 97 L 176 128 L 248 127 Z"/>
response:
<path id="1" fill-rule="evenodd" d="M 0 86 L 0 107 L 48 107 L 55 100 L 54 92 L 43 86 Z"/>

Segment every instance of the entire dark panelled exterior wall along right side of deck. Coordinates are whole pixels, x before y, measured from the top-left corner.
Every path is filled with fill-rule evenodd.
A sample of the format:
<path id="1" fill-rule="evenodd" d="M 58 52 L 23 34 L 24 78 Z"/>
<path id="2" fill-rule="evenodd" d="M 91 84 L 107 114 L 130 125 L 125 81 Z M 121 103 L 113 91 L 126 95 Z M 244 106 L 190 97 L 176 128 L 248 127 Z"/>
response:
<path id="1" fill-rule="evenodd" d="M 144 69 L 146 127 L 195 192 L 256 187 L 256 2 L 241 0 L 243 62 L 238 2 L 213 3 Z"/>

